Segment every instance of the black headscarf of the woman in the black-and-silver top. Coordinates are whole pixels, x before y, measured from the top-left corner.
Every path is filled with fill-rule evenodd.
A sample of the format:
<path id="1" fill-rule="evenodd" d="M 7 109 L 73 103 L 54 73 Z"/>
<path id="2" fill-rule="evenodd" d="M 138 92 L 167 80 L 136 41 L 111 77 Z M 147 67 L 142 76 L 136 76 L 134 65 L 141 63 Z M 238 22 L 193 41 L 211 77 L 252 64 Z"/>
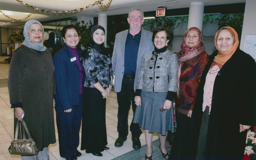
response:
<path id="1" fill-rule="evenodd" d="M 102 26 L 100 26 L 100 25 L 96 25 L 96 26 L 93 26 L 92 28 L 91 28 L 91 41 L 90 41 L 90 46 L 91 47 L 94 47 L 95 49 L 97 49 L 98 51 L 99 51 L 99 53 L 101 53 L 101 54 L 107 54 L 106 53 L 106 47 L 105 47 L 105 45 L 104 45 L 104 43 L 102 43 L 102 44 L 97 44 L 97 43 L 95 43 L 94 42 L 94 40 L 93 40 L 93 33 L 97 30 L 97 29 L 101 29 L 103 32 L 104 32 L 104 34 L 105 34 L 105 29 L 102 27 Z"/>

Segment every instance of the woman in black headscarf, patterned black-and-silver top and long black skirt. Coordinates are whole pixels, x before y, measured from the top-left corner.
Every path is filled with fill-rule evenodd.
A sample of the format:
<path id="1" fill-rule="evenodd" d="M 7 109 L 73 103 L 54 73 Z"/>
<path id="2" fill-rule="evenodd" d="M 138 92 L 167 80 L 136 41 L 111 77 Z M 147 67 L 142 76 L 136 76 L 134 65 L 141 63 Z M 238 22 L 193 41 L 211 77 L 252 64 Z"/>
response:
<path id="1" fill-rule="evenodd" d="M 95 156 L 102 156 L 106 147 L 106 98 L 112 88 L 112 64 L 104 46 L 105 29 L 96 25 L 91 28 L 91 42 L 83 53 L 84 108 L 82 118 L 81 149 Z"/>

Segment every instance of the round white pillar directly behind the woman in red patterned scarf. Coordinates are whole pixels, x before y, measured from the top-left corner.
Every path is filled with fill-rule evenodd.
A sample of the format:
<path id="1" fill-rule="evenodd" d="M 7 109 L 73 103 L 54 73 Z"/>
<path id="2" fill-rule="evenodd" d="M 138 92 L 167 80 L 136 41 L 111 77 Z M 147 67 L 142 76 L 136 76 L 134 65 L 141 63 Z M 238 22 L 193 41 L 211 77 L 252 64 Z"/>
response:
<path id="1" fill-rule="evenodd" d="M 191 2 L 188 15 L 188 28 L 197 27 L 202 31 L 204 15 L 203 2 Z"/>

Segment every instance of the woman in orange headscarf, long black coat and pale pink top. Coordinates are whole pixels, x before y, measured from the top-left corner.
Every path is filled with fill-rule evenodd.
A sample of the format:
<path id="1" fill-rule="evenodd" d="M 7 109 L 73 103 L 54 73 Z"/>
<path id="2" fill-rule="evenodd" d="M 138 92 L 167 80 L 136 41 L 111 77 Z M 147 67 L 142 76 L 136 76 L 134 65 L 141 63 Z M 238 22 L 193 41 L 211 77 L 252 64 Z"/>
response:
<path id="1" fill-rule="evenodd" d="M 191 159 L 243 159 L 246 130 L 255 125 L 256 63 L 223 27 L 203 71 L 192 113 Z"/>

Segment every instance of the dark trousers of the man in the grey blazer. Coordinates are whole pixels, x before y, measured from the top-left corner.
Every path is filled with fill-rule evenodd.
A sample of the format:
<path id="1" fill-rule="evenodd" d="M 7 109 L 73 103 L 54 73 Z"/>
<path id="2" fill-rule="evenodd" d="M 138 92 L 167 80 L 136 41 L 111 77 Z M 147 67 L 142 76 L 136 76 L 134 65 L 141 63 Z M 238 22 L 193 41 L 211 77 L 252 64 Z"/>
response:
<path id="1" fill-rule="evenodd" d="M 133 89 L 134 79 L 123 78 L 122 88 L 120 92 L 117 92 L 117 103 L 118 103 L 118 124 L 117 131 L 120 137 L 123 137 L 124 140 L 127 139 L 128 135 L 128 114 L 130 106 L 132 103 L 133 116 L 135 114 L 136 105 L 134 102 L 135 92 Z M 138 123 L 132 123 L 130 126 L 130 131 L 132 132 L 132 137 L 140 137 L 142 133 Z"/>

